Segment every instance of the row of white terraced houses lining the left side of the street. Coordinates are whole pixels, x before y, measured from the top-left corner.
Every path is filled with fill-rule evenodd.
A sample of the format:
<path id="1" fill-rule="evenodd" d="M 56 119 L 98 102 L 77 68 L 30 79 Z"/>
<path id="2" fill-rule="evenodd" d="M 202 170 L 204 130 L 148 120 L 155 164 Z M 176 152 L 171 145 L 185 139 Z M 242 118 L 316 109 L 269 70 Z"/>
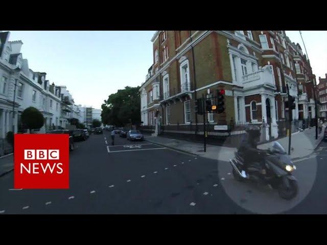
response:
<path id="1" fill-rule="evenodd" d="M 21 41 L 9 41 L 10 32 L 0 32 L 0 138 L 8 131 L 21 131 L 20 115 L 28 107 L 44 117 L 41 133 L 65 128 L 74 116 L 74 100 L 65 86 L 46 80 L 45 72 L 30 69 L 21 54 Z M 14 115 L 13 115 L 14 114 Z"/>

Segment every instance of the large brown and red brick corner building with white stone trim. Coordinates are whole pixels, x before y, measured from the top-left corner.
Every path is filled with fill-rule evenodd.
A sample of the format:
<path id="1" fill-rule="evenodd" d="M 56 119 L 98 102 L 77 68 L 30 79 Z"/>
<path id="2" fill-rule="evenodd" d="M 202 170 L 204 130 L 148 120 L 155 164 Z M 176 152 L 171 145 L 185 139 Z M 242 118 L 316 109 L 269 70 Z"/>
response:
<path id="1" fill-rule="evenodd" d="M 295 97 L 294 120 L 314 117 L 311 66 L 285 31 L 157 31 L 141 89 L 143 125 L 203 125 L 195 100 L 224 89 L 225 112 L 207 124 L 265 124 L 278 137 Z"/>

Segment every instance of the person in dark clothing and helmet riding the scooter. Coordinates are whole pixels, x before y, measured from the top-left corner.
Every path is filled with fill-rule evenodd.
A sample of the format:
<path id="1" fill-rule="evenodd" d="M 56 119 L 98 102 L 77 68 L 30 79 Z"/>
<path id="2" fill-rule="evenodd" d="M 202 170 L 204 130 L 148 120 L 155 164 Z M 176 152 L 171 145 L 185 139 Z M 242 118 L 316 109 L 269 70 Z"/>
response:
<path id="1" fill-rule="evenodd" d="M 260 164 L 261 173 L 265 174 L 265 166 L 264 166 L 264 157 L 267 153 L 267 150 L 260 150 L 257 147 L 258 141 L 260 140 L 260 128 L 255 125 L 251 125 L 247 127 L 245 130 L 246 134 L 241 141 L 241 144 L 238 148 L 238 152 L 244 158 L 245 169 L 254 162 Z M 245 177 L 244 171 L 242 171 L 243 177 Z"/>

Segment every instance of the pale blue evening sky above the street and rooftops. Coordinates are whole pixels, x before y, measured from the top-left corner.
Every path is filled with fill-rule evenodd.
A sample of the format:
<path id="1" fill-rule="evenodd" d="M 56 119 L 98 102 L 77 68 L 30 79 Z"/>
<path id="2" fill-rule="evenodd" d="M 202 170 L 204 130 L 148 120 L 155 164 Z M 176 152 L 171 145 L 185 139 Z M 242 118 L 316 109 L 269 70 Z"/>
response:
<path id="1" fill-rule="evenodd" d="M 152 65 L 155 31 L 10 31 L 21 40 L 21 53 L 33 71 L 65 85 L 75 104 L 101 108 L 111 93 L 145 82 Z M 298 31 L 286 31 L 303 47 Z M 327 31 L 302 31 L 313 73 L 327 73 Z"/>

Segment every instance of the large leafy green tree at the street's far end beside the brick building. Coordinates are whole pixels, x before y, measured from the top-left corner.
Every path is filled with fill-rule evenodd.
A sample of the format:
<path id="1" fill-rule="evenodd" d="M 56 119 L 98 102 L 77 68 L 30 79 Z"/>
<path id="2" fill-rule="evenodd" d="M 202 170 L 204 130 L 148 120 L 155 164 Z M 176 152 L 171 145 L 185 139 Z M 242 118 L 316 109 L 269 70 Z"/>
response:
<path id="1" fill-rule="evenodd" d="M 102 122 L 106 125 L 123 127 L 141 122 L 141 99 L 138 87 L 125 87 L 110 94 L 102 104 Z"/>

